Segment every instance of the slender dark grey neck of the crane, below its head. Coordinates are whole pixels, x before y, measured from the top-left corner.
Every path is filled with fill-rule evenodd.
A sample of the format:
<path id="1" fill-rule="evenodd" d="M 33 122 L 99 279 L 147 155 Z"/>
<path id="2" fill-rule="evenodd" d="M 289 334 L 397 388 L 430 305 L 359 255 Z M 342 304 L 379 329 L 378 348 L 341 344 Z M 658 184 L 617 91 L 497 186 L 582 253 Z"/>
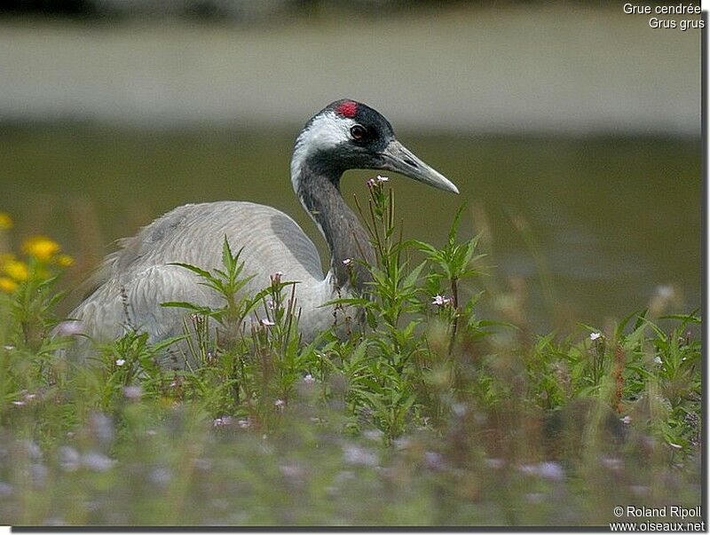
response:
<path id="1" fill-rule="evenodd" d="M 294 169 L 296 170 L 296 169 Z M 375 251 L 370 245 L 367 232 L 340 193 L 339 169 L 314 169 L 308 161 L 297 171 L 297 194 L 306 211 L 318 224 L 330 248 L 330 271 L 335 275 L 338 287 L 344 287 L 354 276 L 354 288 L 358 292 L 367 291 L 365 282 L 371 280 L 366 267 L 359 264 L 364 260 L 375 263 Z M 351 260 L 351 264 L 343 264 Z"/>

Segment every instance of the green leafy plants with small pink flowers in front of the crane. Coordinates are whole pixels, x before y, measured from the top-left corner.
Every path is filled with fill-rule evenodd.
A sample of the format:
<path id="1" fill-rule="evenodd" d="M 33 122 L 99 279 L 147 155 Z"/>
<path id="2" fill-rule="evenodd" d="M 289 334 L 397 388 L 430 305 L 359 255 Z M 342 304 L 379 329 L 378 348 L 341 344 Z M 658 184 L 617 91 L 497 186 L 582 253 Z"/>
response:
<path id="1" fill-rule="evenodd" d="M 56 271 L 30 258 L 0 301 L 0 523 L 606 525 L 699 504 L 695 313 L 540 336 L 497 295 L 509 313 L 485 321 L 461 212 L 443 248 L 406 242 L 369 185 L 370 298 L 310 344 L 280 274 L 237 298 L 225 242 L 223 270 L 183 264 L 223 308 L 164 303 L 190 312 L 185 337 L 127 325 L 79 364 L 48 334 Z M 171 344 L 191 366 L 159 366 Z"/>

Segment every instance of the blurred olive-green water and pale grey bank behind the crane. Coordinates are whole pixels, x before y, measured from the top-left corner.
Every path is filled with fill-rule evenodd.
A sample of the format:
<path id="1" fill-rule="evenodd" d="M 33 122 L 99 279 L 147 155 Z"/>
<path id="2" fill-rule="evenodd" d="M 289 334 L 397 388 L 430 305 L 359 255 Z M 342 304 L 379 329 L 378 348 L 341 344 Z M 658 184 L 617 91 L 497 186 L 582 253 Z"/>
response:
<path id="1" fill-rule="evenodd" d="M 699 43 L 604 2 L 11 2 L 0 211 L 18 243 L 48 234 L 77 258 L 70 282 L 186 202 L 271 204 L 325 255 L 288 161 L 304 122 L 350 97 L 461 190 L 393 178 L 406 235 L 441 244 L 468 203 L 461 231 L 485 231 L 502 284 L 526 282 L 534 323 L 551 321 L 543 288 L 586 323 L 659 293 L 687 311 Z M 346 199 L 370 176 L 348 173 Z"/>

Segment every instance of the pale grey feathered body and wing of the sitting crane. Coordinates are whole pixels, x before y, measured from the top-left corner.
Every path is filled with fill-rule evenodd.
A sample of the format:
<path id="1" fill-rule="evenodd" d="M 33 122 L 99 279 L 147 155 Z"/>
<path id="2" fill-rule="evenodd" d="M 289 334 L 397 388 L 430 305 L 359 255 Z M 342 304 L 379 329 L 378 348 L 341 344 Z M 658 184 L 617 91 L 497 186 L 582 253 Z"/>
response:
<path id="1" fill-rule="evenodd" d="M 322 287 L 317 249 L 296 222 L 283 212 L 251 202 L 220 201 L 173 209 L 121 240 L 121 249 L 106 256 L 96 274 L 96 289 L 69 317 L 83 322 L 84 334 L 110 340 L 126 324 L 145 331 L 151 341 L 182 334 L 185 311 L 161 303 L 181 301 L 217 308 L 224 301 L 198 284 L 192 271 L 222 268 L 222 246 L 242 249 L 242 276 L 254 275 L 244 287 L 254 295 L 282 271 L 284 280 L 301 287 Z"/>

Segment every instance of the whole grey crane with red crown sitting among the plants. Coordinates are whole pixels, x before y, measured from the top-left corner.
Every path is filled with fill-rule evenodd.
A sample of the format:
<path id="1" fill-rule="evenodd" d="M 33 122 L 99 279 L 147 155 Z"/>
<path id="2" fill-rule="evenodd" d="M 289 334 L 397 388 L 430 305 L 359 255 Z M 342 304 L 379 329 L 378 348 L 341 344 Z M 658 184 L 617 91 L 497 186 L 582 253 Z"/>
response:
<path id="1" fill-rule="evenodd" d="M 146 332 L 150 342 L 183 334 L 185 310 L 161 303 L 218 308 L 223 298 L 175 264 L 221 268 L 225 237 L 234 250 L 242 249 L 243 273 L 256 275 L 242 288 L 246 295 L 266 287 L 269 276 L 278 271 L 284 279 L 297 281 L 299 331 L 305 341 L 312 340 L 333 324 L 332 307 L 323 305 L 338 295 L 359 292 L 368 279 L 367 268 L 348 261 L 363 255 L 368 262 L 374 258 L 365 229 L 340 193 L 340 179 L 348 169 L 394 171 L 458 193 L 446 177 L 399 143 L 382 114 L 351 99 L 337 100 L 306 122 L 296 138 L 290 169 L 291 185 L 330 250 L 325 275 L 312 240 L 283 212 L 247 201 L 186 204 L 120 240 L 120 250 L 106 256 L 94 276 L 95 289 L 69 315 L 71 334 L 86 335 L 76 343 L 86 346 L 87 337 L 120 337 L 127 315 L 130 325 Z"/>

